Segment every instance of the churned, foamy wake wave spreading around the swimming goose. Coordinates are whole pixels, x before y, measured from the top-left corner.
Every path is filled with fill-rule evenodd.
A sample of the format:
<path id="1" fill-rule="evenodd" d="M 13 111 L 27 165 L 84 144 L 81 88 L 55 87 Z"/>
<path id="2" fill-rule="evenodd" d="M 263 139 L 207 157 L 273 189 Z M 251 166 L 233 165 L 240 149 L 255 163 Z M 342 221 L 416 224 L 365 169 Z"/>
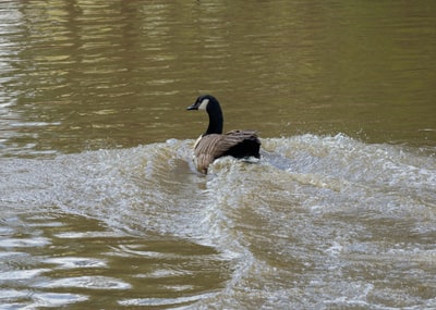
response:
<path id="1" fill-rule="evenodd" d="M 434 157 L 344 135 L 301 135 L 264 139 L 259 161 L 222 158 L 202 175 L 193 142 L 2 159 L 0 201 L 9 212 L 57 209 L 123 234 L 216 249 L 232 275 L 217 294 L 181 297 L 197 306 L 379 306 L 393 288 L 375 288 L 368 268 L 386 259 L 389 274 L 379 276 L 393 284 L 404 276 L 396 269 L 403 260 L 426 271 L 436 237 Z"/>

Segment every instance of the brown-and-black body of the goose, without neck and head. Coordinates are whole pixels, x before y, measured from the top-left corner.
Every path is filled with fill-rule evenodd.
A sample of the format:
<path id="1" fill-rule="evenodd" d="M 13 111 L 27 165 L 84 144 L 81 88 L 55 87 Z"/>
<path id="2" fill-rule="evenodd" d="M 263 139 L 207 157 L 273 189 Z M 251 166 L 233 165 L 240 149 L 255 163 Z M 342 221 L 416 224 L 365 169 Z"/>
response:
<path id="1" fill-rule="evenodd" d="M 217 158 L 259 157 L 261 141 L 255 132 L 231 131 L 225 135 L 207 135 L 197 142 L 194 153 L 197 170 L 207 173 L 208 165 Z"/>

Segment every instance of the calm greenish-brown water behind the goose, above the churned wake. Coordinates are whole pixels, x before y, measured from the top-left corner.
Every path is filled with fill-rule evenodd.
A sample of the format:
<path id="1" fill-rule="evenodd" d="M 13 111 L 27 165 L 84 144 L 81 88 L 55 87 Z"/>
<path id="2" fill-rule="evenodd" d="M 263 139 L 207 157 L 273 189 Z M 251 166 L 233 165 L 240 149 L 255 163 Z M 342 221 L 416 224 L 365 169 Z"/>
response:
<path id="1" fill-rule="evenodd" d="M 195 137 L 206 91 L 229 128 L 435 146 L 433 1 L 49 3 L 0 3 L 3 156 Z"/>

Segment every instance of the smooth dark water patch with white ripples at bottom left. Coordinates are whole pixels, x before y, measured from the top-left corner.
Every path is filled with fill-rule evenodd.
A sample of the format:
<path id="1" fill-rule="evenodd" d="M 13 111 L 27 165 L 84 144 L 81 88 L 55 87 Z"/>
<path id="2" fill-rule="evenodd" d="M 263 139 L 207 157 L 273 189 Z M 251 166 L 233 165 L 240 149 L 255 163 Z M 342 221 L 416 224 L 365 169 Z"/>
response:
<path id="1" fill-rule="evenodd" d="M 83 216 L 21 214 L 3 218 L 2 225 L 0 300 L 8 309 L 152 300 L 182 306 L 213 296 L 230 273 L 211 248 L 133 237 Z M 125 299 L 125 290 L 141 298 Z"/>

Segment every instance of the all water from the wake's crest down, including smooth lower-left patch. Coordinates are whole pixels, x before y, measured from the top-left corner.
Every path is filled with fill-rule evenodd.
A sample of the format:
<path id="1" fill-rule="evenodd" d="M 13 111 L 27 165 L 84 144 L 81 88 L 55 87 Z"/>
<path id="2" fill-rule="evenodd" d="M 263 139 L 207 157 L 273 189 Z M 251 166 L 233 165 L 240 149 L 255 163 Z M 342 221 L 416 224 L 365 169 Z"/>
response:
<path id="1" fill-rule="evenodd" d="M 436 307 L 434 158 L 343 135 L 263 142 L 259 162 L 208 176 L 193 140 L 5 160 L 2 299 Z"/>

